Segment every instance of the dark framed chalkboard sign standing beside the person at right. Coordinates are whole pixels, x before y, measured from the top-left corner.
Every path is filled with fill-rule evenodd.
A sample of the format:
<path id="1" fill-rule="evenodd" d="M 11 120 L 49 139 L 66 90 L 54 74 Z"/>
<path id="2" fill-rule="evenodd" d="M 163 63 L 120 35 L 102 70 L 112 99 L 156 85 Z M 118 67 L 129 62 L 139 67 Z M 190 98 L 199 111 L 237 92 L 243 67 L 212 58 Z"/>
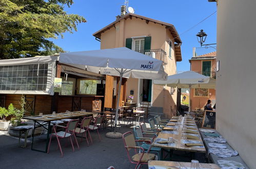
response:
<path id="1" fill-rule="evenodd" d="M 202 128 L 205 128 L 205 129 L 216 128 L 216 112 L 215 111 L 211 111 L 211 110 L 205 111 Z"/>

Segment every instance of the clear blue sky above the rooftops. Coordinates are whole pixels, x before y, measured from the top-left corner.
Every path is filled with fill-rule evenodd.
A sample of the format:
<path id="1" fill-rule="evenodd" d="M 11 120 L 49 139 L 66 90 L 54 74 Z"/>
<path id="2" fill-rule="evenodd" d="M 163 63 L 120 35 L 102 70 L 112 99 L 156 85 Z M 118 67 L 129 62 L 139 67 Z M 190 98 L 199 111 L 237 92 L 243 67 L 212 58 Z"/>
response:
<path id="1" fill-rule="evenodd" d="M 65 51 L 86 51 L 100 49 L 100 42 L 92 34 L 114 22 L 120 15 L 120 7 L 124 0 L 73 0 L 68 13 L 84 16 L 87 23 L 77 26 L 77 32 L 64 33 L 64 38 L 53 39 L 54 43 Z M 177 71 L 190 69 L 188 59 L 192 57 L 192 48 L 200 47 L 195 34 L 203 29 L 207 34 L 206 43 L 216 43 L 216 13 L 203 23 L 184 33 L 189 28 L 216 11 L 216 3 L 207 0 L 130 0 L 129 6 L 135 9 L 135 14 L 173 24 L 182 39 L 182 61 L 177 62 Z M 184 33 L 184 34 L 182 34 Z"/>

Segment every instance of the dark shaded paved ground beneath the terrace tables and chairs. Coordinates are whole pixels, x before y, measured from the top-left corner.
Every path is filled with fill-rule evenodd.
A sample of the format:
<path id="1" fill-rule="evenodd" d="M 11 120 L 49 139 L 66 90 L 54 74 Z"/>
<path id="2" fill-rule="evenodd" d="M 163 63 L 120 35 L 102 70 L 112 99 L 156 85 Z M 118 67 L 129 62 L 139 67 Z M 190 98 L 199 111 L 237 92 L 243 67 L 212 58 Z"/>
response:
<path id="1" fill-rule="evenodd" d="M 122 126 L 118 132 L 125 133 L 132 131 L 132 128 Z M 96 132 L 91 132 L 93 144 L 87 146 L 86 140 L 78 143 L 80 150 L 75 147 L 72 152 L 71 145 L 65 147 L 63 140 L 64 157 L 57 150 L 57 141 L 53 139 L 50 153 L 31 151 L 30 142 L 27 148 L 18 147 L 17 138 L 10 137 L 6 132 L 0 131 L 0 168 L 108 168 L 113 165 L 115 168 L 134 168 L 127 158 L 123 139 L 106 138 L 107 130 L 100 130 L 102 140 L 99 140 Z M 44 140 L 41 140 L 44 141 Z M 38 143 L 38 142 L 37 142 Z M 44 145 L 43 143 L 39 144 Z M 174 152 L 172 160 L 189 161 L 189 156 L 184 153 Z M 204 154 L 195 154 L 195 159 L 205 162 Z M 146 165 L 143 168 L 147 168 Z"/>

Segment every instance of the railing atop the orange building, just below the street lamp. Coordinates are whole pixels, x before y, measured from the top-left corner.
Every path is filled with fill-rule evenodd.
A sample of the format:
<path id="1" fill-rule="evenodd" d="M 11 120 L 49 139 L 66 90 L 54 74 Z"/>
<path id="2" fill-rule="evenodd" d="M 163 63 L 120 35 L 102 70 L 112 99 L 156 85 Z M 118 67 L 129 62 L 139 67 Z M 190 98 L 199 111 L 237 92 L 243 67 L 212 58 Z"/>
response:
<path id="1" fill-rule="evenodd" d="M 216 56 L 216 47 L 205 46 L 202 48 L 193 48 L 193 57 L 197 56 Z"/>

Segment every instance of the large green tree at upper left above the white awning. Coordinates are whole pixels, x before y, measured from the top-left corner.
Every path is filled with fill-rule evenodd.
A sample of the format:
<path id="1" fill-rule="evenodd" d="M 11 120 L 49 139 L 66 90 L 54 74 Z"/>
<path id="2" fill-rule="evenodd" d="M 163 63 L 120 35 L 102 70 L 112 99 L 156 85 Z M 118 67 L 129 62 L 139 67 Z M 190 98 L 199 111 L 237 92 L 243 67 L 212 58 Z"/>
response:
<path id="1" fill-rule="evenodd" d="M 67 14 L 72 0 L 0 0 L 0 58 L 33 57 L 64 52 L 49 38 L 77 31 L 83 16 Z"/>

